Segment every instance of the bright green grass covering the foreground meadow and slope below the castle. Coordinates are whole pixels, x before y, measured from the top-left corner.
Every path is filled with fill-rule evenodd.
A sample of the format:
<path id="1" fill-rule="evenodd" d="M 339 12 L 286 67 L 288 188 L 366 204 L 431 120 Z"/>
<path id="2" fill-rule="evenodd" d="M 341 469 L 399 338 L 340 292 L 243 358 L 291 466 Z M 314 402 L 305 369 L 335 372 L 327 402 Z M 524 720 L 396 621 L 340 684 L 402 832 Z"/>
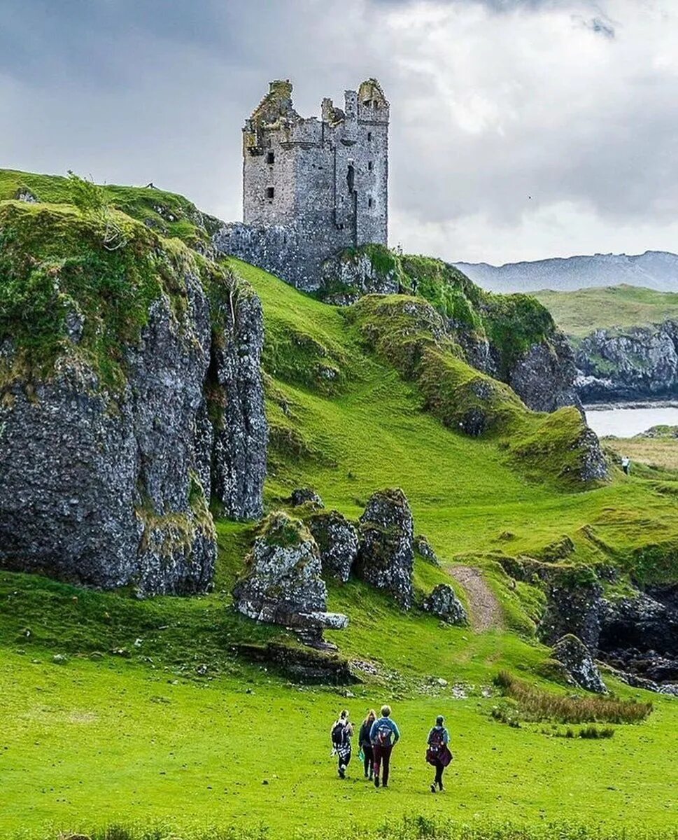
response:
<path id="1" fill-rule="evenodd" d="M 31 183 L 40 197 L 59 201 L 49 179 Z M 17 179 L 11 184 L 0 200 L 15 197 Z M 146 192 L 129 189 L 136 218 L 148 210 Z M 567 727 L 558 722 L 511 727 L 492 712 L 500 669 L 571 693 L 553 680 L 549 651 L 535 638 L 543 596 L 509 580 L 499 559 L 541 557 L 566 535 L 570 564 L 675 577 L 678 474 L 615 471 L 607 484 L 577 488 L 553 468 L 561 459 L 556 444 L 576 422 L 569 410 L 535 415 L 502 396 L 506 422 L 471 438 L 447 423 L 469 370 L 436 349 L 434 361 L 445 365 L 408 375 L 398 331 L 389 333 L 393 312 L 379 302 L 330 307 L 250 265 L 228 260 L 228 267 L 263 302 L 266 506 L 285 507 L 295 486 L 313 486 L 326 507 L 357 517 L 373 491 L 401 486 L 416 531 L 441 559 L 441 567 L 416 559 L 417 595 L 454 583 L 449 570 L 472 564 L 498 598 L 501 619 L 484 633 L 445 627 L 418 609 L 400 612 L 357 580 L 332 584 L 329 606 L 346 612 L 350 625 L 329 635 L 342 656 L 374 669 L 349 693 L 298 685 L 273 664 L 243 656 L 243 644 L 295 649 L 295 642 L 232 611 L 229 593 L 256 526 L 216 511 L 220 554 L 207 596 L 137 601 L 0 571 L 3 837 L 34 840 L 113 823 L 126 828 L 109 840 L 368 837 L 389 821 L 379 837 L 587 840 L 618 837 L 620 827 L 628 837 L 670 837 L 675 700 L 606 675 L 620 697 L 651 700 L 655 709 L 602 740 L 559 737 Z M 442 395 L 437 402 L 433 391 Z M 342 783 L 329 758 L 332 720 L 343 706 L 359 720 L 384 701 L 403 731 L 390 790 L 365 783 L 356 758 Z M 425 736 L 439 713 L 456 760 L 448 792 L 432 798 Z M 396 825 L 403 816 L 407 822 Z M 447 819 L 456 827 L 435 834 L 433 823 Z M 158 821 L 169 828 L 156 830 Z"/>

